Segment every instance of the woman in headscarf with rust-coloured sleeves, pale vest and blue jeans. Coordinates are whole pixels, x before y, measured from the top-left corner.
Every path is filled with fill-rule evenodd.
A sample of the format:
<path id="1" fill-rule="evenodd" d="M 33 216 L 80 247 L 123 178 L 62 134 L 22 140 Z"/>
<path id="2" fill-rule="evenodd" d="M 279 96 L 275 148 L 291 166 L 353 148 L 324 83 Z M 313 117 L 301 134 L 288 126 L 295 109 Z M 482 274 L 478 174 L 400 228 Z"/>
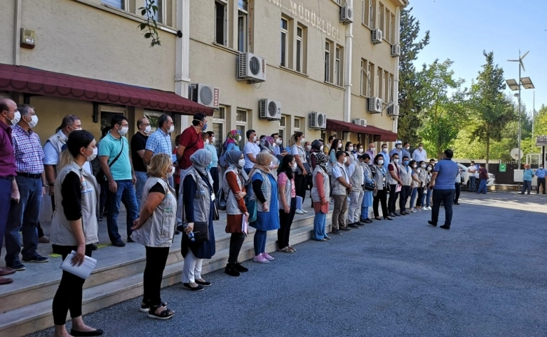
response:
<path id="1" fill-rule="evenodd" d="M 313 146 L 313 145 L 312 145 Z M 329 212 L 330 183 L 327 173 L 328 157 L 323 152 L 316 154 L 317 165 L 313 169 L 313 187 L 311 187 L 311 199 L 313 200 L 313 211 L 316 212 L 313 218 L 312 239 L 316 241 L 327 241 L 325 227 L 327 225 L 327 213 Z"/>

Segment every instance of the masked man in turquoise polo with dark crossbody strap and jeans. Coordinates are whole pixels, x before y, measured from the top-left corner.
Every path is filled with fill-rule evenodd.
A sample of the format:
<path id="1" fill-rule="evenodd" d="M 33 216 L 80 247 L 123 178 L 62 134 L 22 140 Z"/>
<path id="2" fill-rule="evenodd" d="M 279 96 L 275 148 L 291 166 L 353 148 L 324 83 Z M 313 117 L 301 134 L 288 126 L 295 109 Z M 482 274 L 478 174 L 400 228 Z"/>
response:
<path id="1" fill-rule="evenodd" d="M 108 181 L 108 236 L 112 242 L 112 246 L 123 247 L 126 246 L 126 243 L 121 240 L 118 233 L 120 202 L 123 202 L 123 205 L 126 206 L 128 242 L 133 242 L 130 237 L 131 227 L 133 227 L 133 221 L 139 217 L 139 205 L 137 204 L 135 187 L 133 186 L 137 178 L 129 159 L 128 140 L 126 137 L 123 137 L 129 129 L 127 117 L 123 116 L 123 114 L 114 114 L 111 126 L 112 130 L 99 143 L 99 160 L 101 162 L 101 169 Z M 144 156 L 146 157 L 146 153 Z"/>

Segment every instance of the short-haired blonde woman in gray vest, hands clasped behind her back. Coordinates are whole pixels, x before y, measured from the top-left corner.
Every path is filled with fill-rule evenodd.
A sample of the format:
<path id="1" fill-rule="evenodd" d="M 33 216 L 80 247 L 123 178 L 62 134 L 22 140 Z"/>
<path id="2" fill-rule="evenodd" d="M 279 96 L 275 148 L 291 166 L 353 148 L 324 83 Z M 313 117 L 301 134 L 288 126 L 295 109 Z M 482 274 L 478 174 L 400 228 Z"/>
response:
<path id="1" fill-rule="evenodd" d="M 168 177 L 175 173 L 171 156 L 158 153 L 147 168 L 149 178 L 144 184 L 143 203 L 139 218 L 133 221 L 133 241 L 146 249 L 147 263 L 144 267 L 144 296 L 139 310 L 147 317 L 169 319 L 175 312 L 166 308 L 161 300 L 163 270 L 169 256 L 169 247 L 175 236 L 177 199 L 175 190 L 169 186 Z"/>

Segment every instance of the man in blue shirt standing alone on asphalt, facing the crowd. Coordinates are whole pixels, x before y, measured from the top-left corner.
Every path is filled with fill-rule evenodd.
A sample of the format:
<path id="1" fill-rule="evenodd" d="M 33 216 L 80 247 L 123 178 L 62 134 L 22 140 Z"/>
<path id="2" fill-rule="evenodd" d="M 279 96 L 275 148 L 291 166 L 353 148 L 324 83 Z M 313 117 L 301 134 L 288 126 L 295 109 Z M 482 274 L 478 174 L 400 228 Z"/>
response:
<path id="1" fill-rule="evenodd" d="M 433 189 L 433 209 L 431 220 L 428 220 L 428 223 L 433 226 L 437 225 L 440 203 L 443 202 L 445 204 L 445 224 L 440 227 L 445 230 L 450 230 L 452 223 L 452 204 L 456 192 L 454 180 L 459 172 L 459 166 L 452 161 L 452 156 L 454 156 L 452 150 L 445 150 L 443 160 L 438 161 L 433 168 L 431 183 L 429 183 L 429 188 Z"/>

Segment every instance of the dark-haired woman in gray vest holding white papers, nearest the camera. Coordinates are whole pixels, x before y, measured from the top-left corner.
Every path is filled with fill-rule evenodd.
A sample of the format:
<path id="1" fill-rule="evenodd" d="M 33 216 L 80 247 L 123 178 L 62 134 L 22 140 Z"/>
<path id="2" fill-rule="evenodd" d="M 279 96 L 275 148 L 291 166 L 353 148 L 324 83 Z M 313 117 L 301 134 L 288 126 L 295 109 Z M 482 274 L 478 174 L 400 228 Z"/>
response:
<path id="1" fill-rule="evenodd" d="M 62 150 L 55 179 L 55 204 L 51 220 L 51 244 L 65 260 L 75 251 L 72 264 L 81 265 L 85 256 L 91 257 L 92 244 L 99 241 L 97 230 L 97 200 L 99 186 L 95 177 L 83 169 L 93 155 L 97 143 L 88 131 L 69 134 L 67 147 Z M 100 336 L 103 331 L 83 322 L 81 301 L 85 279 L 63 271 L 61 282 L 53 298 L 54 336 Z M 65 326 L 67 313 L 72 317 L 72 330 Z"/>

